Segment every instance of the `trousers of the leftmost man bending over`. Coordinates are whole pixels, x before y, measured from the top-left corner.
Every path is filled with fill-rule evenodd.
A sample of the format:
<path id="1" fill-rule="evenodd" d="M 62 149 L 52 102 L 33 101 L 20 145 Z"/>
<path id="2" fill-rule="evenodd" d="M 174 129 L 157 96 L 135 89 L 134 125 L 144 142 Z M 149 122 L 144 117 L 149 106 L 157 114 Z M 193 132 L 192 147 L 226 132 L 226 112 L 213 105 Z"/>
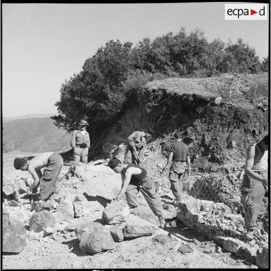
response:
<path id="1" fill-rule="evenodd" d="M 56 181 L 62 166 L 63 159 L 61 155 L 53 152 L 48 158 L 48 164 L 44 169 L 43 175 L 38 184 L 40 188 L 38 200 L 44 201 L 48 199 L 53 192 L 55 192 Z M 33 193 L 36 192 L 38 185 L 33 190 Z"/>

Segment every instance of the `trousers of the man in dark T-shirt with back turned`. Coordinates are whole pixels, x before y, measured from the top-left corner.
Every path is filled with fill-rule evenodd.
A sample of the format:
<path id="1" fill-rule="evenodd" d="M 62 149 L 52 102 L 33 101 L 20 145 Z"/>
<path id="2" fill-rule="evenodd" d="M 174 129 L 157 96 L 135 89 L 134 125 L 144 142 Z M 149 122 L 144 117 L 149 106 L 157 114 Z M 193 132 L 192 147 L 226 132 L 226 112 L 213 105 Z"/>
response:
<path id="1" fill-rule="evenodd" d="M 170 188 L 177 202 L 180 202 L 183 193 L 185 170 L 186 162 L 181 161 L 173 162 L 169 169 Z"/>

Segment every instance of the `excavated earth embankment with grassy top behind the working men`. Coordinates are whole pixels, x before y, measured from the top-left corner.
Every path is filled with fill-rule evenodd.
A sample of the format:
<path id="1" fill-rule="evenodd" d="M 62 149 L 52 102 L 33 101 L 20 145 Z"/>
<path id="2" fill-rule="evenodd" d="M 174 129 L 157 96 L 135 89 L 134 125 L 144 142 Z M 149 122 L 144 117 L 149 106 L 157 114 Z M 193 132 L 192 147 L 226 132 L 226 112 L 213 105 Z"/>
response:
<path id="1" fill-rule="evenodd" d="M 180 131 L 191 152 L 192 174 L 186 187 L 189 194 L 226 203 L 234 213 L 241 213 L 246 149 L 268 133 L 269 121 L 268 97 L 252 99 L 252 81 L 268 82 L 268 74 L 150 82 L 131 94 L 125 113 L 99 137 L 97 146 L 103 155 L 123 158 L 127 137 L 152 128 L 155 133 L 144 164 L 160 185 L 169 187 L 168 175 L 161 167 L 166 164 L 173 133 Z M 222 100 L 214 102 L 221 96 Z M 267 206 L 263 204 L 259 218 L 264 216 Z"/>

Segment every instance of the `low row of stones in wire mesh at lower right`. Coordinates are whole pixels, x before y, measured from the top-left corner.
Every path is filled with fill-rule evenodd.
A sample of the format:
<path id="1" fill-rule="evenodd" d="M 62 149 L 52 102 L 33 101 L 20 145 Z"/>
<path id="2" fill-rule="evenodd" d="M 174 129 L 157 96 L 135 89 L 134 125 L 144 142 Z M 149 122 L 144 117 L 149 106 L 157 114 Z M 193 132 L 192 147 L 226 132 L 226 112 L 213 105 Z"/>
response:
<path id="1" fill-rule="evenodd" d="M 224 203 L 199 200 L 184 193 L 177 218 L 190 229 L 217 242 L 223 249 L 240 254 L 260 268 L 268 268 L 268 233 L 259 223 L 255 231 L 256 239 L 245 243 L 243 217 L 232 214 Z"/>

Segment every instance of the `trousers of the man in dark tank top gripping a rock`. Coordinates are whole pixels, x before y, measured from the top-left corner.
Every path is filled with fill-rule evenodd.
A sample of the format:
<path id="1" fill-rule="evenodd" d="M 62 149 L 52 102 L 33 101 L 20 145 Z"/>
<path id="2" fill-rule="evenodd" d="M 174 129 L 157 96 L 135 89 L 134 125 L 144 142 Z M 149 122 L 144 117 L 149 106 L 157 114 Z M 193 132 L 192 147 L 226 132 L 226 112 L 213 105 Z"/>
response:
<path id="1" fill-rule="evenodd" d="M 163 207 L 158 195 L 158 188 L 156 188 L 152 179 L 147 179 L 142 185 L 129 184 L 125 192 L 125 197 L 130 208 L 138 206 L 138 199 L 136 194 L 141 192 L 147 203 L 149 204 L 153 214 L 157 217 L 163 215 Z"/>

